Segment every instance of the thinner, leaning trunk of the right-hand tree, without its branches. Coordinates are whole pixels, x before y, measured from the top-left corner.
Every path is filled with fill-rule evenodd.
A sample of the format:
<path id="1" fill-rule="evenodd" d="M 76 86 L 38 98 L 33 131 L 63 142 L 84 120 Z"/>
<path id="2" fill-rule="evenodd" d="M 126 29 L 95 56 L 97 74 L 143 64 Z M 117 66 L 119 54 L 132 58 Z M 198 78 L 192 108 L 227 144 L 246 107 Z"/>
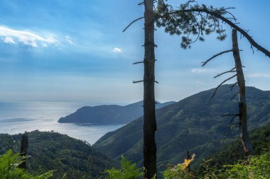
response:
<path id="1" fill-rule="evenodd" d="M 246 103 L 246 85 L 244 82 L 244 73 L 240 59 L 237 30 L 232 30 L 232 50 L 234 55 L 235 69 L 237 71 L 237 82 L 239 86 L 239 132 L 240 139 L 244 148 L 244 153 L 250 155 L 253 153 L 252 144 L 249 141 L 247 133 L 247 103 Z"/>

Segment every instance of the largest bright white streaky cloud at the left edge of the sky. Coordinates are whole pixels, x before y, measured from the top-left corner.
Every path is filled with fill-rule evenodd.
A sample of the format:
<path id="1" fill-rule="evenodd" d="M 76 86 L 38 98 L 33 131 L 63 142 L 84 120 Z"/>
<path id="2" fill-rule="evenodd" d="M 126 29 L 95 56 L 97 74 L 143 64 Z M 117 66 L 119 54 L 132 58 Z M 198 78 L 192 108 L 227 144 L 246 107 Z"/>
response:
<path id="1" fill-rule="evenodd" d="M 24 45 L 31 47 L 38 47 L 39 43 L 44 45 L 57 45 L 57 41 L 53 37 L 41 37 L 34 33 L 29 33 L 22 30 L 13 30 L 11 28 L 5 28 L 0 26 L 0 37 L 4 37 L 4 42 L 16 43 L 22 42 Z M 16 40 L 16 41 L 14 41 Z"/>

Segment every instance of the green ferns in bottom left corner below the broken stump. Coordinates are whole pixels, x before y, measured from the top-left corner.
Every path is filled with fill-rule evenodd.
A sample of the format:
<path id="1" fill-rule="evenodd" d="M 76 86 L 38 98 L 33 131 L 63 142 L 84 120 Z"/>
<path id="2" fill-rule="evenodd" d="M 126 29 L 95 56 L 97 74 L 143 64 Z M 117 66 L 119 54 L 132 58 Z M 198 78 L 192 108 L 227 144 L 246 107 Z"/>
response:
<path id="1" fill-rule="evenodd" d="M 23 162 L 23 157 L 13 154 L 11 150 L 0 156 L 0 179 L 47 179 L 53 176 L 53 171 L 42 175 L 31 175 L 27 171 L 18 168 Z"/>

